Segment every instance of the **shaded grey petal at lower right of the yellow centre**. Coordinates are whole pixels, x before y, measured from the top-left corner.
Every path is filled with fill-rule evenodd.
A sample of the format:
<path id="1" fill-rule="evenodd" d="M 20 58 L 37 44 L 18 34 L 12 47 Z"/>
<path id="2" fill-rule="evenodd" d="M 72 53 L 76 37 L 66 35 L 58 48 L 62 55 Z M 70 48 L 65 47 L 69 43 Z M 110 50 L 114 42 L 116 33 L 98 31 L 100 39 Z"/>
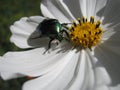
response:
<path id="1" fill-rule="evenodd" d="M 95 56 L 106 68 L 108 74 L 112 79 L 111 85 L 120 83 L 120 48 L 109 46 L 109 44 L 101 45 L 95 49 Z"/>

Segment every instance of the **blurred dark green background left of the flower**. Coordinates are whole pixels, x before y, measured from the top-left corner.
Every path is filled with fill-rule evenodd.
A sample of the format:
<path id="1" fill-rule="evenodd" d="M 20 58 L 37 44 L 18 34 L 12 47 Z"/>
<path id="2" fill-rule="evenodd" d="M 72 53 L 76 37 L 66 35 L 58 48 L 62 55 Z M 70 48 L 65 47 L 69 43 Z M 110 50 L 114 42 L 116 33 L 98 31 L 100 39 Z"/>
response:
<path id="1" fill-rule="evenodd" d="M 41 0 L 0 0 L 0 55 L 7 51 L 20 50 L 9 41 L 9 27 L 21 17 L 41 15 L 40 2 Z M 9 81 L 0 78 L 0 90 L 21 90 L 26 80 L 26 77 Z"/>

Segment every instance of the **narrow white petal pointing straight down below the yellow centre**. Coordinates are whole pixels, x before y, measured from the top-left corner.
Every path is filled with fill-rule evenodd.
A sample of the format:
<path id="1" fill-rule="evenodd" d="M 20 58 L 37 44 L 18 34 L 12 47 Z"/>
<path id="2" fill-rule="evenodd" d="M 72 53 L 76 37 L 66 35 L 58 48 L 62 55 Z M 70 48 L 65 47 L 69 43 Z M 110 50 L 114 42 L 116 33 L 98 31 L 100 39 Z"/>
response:
<path id="1" fill-rule="evenodd" d="M 75 71 L 71 86 L 66 90 L 92 90 L 94 86 L 94 74 L 90 63 L 90 58 L 84 50 Z"/>

